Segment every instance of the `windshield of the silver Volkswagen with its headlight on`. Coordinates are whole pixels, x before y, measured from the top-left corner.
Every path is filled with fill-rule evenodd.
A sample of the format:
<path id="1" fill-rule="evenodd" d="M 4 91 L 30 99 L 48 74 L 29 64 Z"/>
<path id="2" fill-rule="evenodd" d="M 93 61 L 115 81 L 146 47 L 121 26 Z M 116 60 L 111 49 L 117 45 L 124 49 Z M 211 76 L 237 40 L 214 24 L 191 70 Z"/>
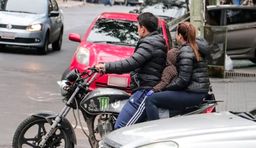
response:
<path id="1" fill-rule="evenodd" d="M 45 8 L 45 0 L 0 0 L 2 11 L 44 14 Z"/>

